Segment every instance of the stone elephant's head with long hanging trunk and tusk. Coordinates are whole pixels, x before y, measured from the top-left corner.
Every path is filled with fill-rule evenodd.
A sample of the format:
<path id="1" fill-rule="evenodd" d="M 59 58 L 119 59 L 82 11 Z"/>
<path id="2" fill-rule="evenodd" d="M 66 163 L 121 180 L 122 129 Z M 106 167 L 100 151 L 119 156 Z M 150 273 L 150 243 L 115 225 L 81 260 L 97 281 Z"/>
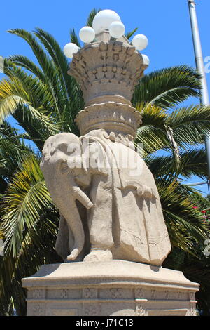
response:
<path id="1" fill-rule="evenodd" d="M 92 207 L 92 202 L 79 187 L 90 183 L 90 176 L 83 168 L 80 138 L 72 133 L 59 133 L 48 138 L 43 147 L 40 166 L 52 200 L 73 233 L 73 249 L 69 242 L 71 254 L 67 256 L 67 260 L 75 260 L 85 244 L 83 223 L 76 199 L 86 209 Z"/>

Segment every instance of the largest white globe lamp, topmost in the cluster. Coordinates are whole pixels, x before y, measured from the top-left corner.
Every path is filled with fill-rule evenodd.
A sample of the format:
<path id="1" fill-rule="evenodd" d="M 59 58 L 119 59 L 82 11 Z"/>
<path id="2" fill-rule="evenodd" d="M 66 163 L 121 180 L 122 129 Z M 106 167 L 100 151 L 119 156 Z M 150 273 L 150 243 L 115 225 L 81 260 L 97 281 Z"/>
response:
<path id="1" fill-rule="evenodd" d="M 99 11 L 99 13 L 94 16 L 92 27 L 94 32 L 99 34 L 105 29 L 109 29 L 112 22 L 121 22 L 120 16 L 115 11 L 105 9 L 104 11 Z"/>

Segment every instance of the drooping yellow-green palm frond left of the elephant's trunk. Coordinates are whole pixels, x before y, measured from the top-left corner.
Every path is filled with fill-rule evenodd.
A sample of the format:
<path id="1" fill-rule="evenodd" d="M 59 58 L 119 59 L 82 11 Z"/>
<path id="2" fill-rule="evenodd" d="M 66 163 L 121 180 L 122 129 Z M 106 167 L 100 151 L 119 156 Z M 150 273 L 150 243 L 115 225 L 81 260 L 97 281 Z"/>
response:
<path id="1" fill-rule="evenodd" d="M 52 206 L 45 187 L 43 174 L 34 156 L 27 157 L 3 198 L 3 232 L 6 236 L 6 251 L 17 258 L 22 251 L 25 232 L 34 229 L 44 208 Z"/>

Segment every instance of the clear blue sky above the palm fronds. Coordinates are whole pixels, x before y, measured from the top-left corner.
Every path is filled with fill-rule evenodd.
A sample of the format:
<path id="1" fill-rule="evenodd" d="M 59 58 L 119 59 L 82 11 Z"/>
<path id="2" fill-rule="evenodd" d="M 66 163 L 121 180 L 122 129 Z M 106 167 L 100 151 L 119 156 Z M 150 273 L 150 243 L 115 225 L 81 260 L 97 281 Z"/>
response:
<path id="1" fill-rule="evenodd" d="M 199 3 L 197 17 L 206 58 L 210 56 L 210 1 L 196 2 Z M 181 64 L 195 67 L 187 0 L 1 1 L 0 55 L 22 54 L 34 59 L 25 41 L 6 33 L 14 28 L 32 31 L 41 27 L 53 34 L 63 47 L 69 42 L 69 30 L 74 27 L 79 32 L 92 8 L 112 9 L 120 15 L 126 32 L 139 27 L 138 33 L 146 34 L 149 44 L 144 53 L 151 60 L 147 72 Z M 207 82 L 210 88 L 210 73 Z M 199 100 L 189 100 L 188 104 L 192 102 L 199 103 Z M 193 181 L 197 179 L 193 178 Z M 200 190 L 207 192 L 207 187 L 200 187 Z"/>

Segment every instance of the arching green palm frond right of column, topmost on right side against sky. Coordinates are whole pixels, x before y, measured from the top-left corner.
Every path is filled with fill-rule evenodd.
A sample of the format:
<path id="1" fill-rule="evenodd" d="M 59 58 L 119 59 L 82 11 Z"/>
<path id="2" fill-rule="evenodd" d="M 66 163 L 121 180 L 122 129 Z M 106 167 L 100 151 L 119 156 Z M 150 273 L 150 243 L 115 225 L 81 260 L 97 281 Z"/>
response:
<path id="1" fill-rule="evenodd" d="M 200 76 L 186 65 L 169 67 L 144 76 L 136 86 L 132 103 L 152 103 L 165 109 L 200 95 Z"/>

